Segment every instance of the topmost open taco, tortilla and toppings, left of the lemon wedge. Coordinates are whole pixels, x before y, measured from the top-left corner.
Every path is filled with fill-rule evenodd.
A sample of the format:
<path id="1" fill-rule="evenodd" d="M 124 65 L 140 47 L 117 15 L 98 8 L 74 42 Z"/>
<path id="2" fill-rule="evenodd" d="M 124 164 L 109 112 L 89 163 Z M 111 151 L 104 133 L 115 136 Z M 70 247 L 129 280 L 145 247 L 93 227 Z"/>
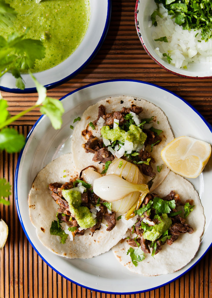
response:
<path id="1" fill-rule="evenodd" d="M 169 168 L 160 152 L 173 139 L 164 112 L 154 104 L 129 96 L 109 97 L 91 105 L 75 126 L 72 154 L 75 166 L 93 164 L 106 172 L 114 158 L 137 164 L 143 183 L 154 178 L 151 190 Z"/>

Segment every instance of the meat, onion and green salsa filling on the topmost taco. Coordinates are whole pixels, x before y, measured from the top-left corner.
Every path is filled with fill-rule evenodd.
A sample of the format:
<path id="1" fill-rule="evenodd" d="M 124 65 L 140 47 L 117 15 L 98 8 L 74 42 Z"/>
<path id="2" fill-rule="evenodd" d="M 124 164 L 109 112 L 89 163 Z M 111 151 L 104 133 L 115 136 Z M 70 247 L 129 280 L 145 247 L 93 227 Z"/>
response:
<path id="1" fill-rule="evenodd" d="M 142 107 L 132 104 L 130 108 L 106 113 L 105 106 L 99 105 L 98 117 L 89 125 L 95 129 L 104 124 L 100 129 L 101 136 L 97 138 L 89 131 L 90 137 L 83 144 L 85 152 L 94 153 L 92 160 L 105 163 L 106 168 L 114 158 L 123 158 L 137 164 L 144 175 L 153 177 L 156 173 L 151 164 L 155 163 L 155 159 L 151 151 L 161 142 L 162 130 L 154 128 L 154 116 L 142 118 L 142 111 Z M 147 125 L 148 129 L 145 128 Z"/>

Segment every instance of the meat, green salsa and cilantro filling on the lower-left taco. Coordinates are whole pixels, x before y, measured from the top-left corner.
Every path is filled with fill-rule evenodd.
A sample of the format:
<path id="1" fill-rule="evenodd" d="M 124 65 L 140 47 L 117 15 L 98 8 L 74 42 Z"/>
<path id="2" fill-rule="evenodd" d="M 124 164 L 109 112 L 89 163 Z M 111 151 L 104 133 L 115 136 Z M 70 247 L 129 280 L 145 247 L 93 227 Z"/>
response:
<path id="1" fill-rule="evenodd" d="M 62 222 L 68 225 L 73 236 L 84 235 L 86 229 L 93 235 L 101 228 L 103 218 L 107 221 L 106 231 L 111 231 L 116 226 L 116 212 L 111 211 L 111 203 L 95 195 L 91 184 L 76 177 L 64 184 L 50 183 L 49 189 L 52 191 L 52 198 L 59 205 L 57 221 L 53 221 L 50 228 L 51 235 L 59 235 L 59 225 Z"/>

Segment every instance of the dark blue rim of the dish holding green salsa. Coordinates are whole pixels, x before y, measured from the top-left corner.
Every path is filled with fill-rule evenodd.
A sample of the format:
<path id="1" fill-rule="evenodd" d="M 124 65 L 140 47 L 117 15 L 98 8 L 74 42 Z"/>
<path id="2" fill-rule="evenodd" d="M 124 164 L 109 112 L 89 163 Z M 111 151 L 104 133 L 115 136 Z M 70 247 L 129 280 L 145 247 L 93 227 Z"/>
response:
<path id="1" fill-rule="evenodd" d="M 48 90 L 48 89 L 52 89 L 54 87 L 57 87 L 65 82 L 67 82 L 68 80 L 72 79 L 73 77 L 75 77 L 76 75 L 78 75 L 79 72 L 81 72 L 96 56 L 97 52 L 99 51 L 99 49 L 101 48 L 105 37 L 107 35 L 107 31 L 109 29 L 109 25 L 110 25 L 110 18 L 111 18 L 111 9 L 112 9 L 112 4 L 111 4 L 112 0 L 107 0 L 107 18 L 106 18 L 106 22 L 105 22 L 105 28 L 102 32 L 102 36 L 96 46 L 96 48 L 94 49 L 93 53 L 90 55 L 90 57 L 78 68 L 76 69 L 74 72 L 72 72 L 70 75 L 68 75 L 67 77 L 64 77 L 62 80 L 59 80 L 57 82 L 54 83 L 50 83 L 47 85 L 44 85 L 44 87 Z M 24 94 L 24 93 L 35 93 L 37 92 L 36 88 L 25 88 L 24 90 L 21 89 L 10 89 L 7 87 L 2 87 L 0 86 L 0 90 L 1 91 L 5 91 L 5 92 L 11 92 L 11 93 L 20 93 L 20 94 Z"/>

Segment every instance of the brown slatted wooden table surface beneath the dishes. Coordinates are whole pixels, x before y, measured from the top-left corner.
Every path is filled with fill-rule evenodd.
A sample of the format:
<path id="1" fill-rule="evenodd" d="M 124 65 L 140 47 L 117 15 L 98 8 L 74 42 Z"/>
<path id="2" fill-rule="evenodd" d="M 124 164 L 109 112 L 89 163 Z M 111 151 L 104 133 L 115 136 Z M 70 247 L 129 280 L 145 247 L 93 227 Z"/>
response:
<path id="1" fill-rule="evenodd" d="M 158 66 L 140 44 L 135 29 L 134 10 L 135 0 L 113 0 L 110 27 L 96 57 L 75 78 L 49 90 L 48 96 L 59 99 L 70 91 L 100 80 L 142 80 L 165 87 L 183 97 L 212 124 L 212 79 L 186 79 Z M 2 96 L 8 100 L 11 115 L 33 105 L 37 100 L 37 94 L 2 92 Z M 31 111 L 15 122 L 14 127 L 27 136 L 39 116 L 37 110 Z M 12 187 L 17 159 L 18 154 L 0 153 L 0 177 L 4 176 Z M 212 297 L 212 249 L 180 279 L 150 292 L 110 295 L 81 288 L 56 274 L 42 261 L 29 244 L 20 225 L 14 193 L 10 196 L 10 203 L 9 207 L 2 204 L 0 206 L 1 217 L 9 226 L 6 245 L 0 252 L 1 298 Z"/>

